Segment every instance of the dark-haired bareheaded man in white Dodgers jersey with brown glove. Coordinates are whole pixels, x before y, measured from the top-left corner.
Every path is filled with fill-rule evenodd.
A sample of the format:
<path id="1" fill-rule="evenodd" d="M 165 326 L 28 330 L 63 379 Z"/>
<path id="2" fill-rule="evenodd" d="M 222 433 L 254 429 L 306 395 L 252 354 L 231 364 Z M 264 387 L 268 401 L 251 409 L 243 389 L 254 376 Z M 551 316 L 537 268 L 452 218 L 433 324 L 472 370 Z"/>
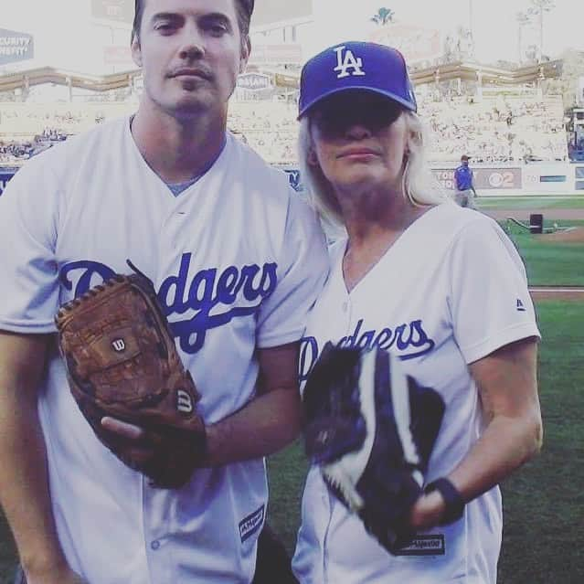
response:
<path id="1" fill-rule="evenodd" d="M 327 258 L 286 176 L 226 133 L 253 1 L 136 8 L 133 119 L 32 159 L 0 200 L 0 499 L 28 584 L 250 582 L 263 456 L 300 426 L 298 341 Z M 59 304 L 126 260 L 154 281 L 202 394 L 207 460 L 180 490 L 101 445 L 56 351 Z"/>

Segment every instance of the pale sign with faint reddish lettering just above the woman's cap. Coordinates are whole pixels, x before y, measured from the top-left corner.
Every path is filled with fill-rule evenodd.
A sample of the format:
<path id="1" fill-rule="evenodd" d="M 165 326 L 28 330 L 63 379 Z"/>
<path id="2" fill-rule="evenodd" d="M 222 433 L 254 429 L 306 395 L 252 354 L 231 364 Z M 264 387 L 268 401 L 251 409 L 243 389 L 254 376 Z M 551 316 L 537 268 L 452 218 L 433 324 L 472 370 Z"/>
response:
<path id="1" fill-rule="evenodd" d="M 441 34 L 437 29 L 389 24 L 378 27 L 369 40 L 397 48 L 408 63 L 441 56 Z"/>

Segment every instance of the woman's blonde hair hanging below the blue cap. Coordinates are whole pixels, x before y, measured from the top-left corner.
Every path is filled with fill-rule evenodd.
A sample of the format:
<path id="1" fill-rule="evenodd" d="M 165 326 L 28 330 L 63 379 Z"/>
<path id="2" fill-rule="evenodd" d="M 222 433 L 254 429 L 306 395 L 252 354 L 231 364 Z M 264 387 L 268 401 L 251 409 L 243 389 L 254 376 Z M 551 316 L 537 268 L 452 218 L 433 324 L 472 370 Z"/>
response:
<path id="1" fill-rule="evenodd" d="M 408 143 L 405 168 L 402 177 L 404 196 L 415 207 L 439 205 L 446 195 L 426 164 L 426 131 L 413 111 L 402 111 L 406 122 Z M 334 189 L 324 176 L 319 165 L 311 165 L 309 157 L 313 152 L 312 118 L 310 112 L 300 121 L 298 135 L 298 160 L 303 185 L 313 206 L 318 210 L 324 223 L 332 228 L 344 228 L 343 215 Z"/>

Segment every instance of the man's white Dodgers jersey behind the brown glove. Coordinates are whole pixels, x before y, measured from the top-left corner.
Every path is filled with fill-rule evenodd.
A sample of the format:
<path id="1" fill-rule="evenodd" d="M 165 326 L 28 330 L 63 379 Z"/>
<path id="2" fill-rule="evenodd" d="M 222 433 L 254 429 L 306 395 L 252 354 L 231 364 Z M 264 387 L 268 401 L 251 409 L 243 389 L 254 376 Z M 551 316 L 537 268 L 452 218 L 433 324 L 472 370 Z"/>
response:
<path id="1" fill-rule="evenodd" d="M 53 333 L 58 305 L 129 259 L 154 281 L 207 424 L 244 407 L 257 347 L 299 340 L 328 270 L 324 236 L 286 175 L 228 135 L 173 196 L 109 122 L 30 160 L 0 199 L 0 328 Z M 249 582 L 267 511 L 263 459 L 154 489 L 95 437 L 53 350 L 39 413 L 58 536 L 91 584 Z"/>

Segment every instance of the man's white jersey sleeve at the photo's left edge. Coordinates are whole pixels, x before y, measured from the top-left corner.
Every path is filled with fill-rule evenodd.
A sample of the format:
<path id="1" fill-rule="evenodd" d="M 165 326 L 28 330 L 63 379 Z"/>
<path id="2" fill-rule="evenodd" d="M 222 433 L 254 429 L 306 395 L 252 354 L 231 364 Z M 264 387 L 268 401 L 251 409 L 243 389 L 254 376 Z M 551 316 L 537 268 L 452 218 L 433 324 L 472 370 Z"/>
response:
<path id="1" fill-rule="evenodd" d="M 40 158 L 28 161 L 0 196 L 0 329 L 15 333 L 55 330 L 57 180 Z"/>

